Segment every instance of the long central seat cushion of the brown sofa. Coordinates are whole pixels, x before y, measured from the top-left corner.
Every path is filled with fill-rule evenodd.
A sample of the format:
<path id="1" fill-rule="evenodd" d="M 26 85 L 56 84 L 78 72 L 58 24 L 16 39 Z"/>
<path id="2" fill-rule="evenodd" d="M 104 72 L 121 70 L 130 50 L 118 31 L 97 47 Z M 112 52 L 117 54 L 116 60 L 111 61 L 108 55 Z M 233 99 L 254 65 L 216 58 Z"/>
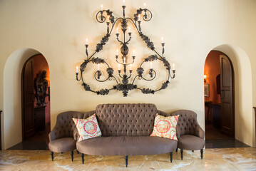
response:
<path id="1" fill-rule="evenodd" d="M 76 142 L 76 148 L 87 155 L 158 155 L 173 152 L 177 141 L 150 136 L 112 136 Z"/>

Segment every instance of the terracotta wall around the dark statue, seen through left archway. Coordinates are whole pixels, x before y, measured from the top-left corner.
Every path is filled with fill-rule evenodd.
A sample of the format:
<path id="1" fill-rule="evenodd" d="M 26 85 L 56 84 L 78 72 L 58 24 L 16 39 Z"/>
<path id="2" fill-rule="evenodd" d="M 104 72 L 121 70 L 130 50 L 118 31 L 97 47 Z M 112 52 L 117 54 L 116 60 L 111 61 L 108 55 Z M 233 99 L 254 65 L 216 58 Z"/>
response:
<path id="1" fill-rule="evenodd" d="M 48 63 L 46 58 L 43 55 L 39 54 L 33 57 L 34 58 L 34 78 L 36 78 L 36 73 L 41 73 L 42 71 L 46 71 L 46 80 L 48 81 L 48 86 L 50 86 L 50 71 L 48 67 Z M 47 92 L 48 93 L 48 92 Z M 36 100 L 34 103 L 36 106 Z M 46 123 L 50 123 L 50 102 L 48 101 L 48 97 L 46 97 Z"/>

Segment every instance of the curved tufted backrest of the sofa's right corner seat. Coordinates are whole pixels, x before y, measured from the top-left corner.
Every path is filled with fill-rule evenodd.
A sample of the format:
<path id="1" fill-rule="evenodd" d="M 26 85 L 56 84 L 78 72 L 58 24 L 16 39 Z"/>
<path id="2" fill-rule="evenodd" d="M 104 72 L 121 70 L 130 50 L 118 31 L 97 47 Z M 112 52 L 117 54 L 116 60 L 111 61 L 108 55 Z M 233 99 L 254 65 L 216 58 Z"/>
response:
<path id="1" fill-rule="evenodd" d="M 179 115 L 176 127 L 178 139 L 181 135 L 195 135 L 204 138 L 204 131 L 198 124 L 196 113 L 191 110 L 178 110 L 171 115 Z"/>

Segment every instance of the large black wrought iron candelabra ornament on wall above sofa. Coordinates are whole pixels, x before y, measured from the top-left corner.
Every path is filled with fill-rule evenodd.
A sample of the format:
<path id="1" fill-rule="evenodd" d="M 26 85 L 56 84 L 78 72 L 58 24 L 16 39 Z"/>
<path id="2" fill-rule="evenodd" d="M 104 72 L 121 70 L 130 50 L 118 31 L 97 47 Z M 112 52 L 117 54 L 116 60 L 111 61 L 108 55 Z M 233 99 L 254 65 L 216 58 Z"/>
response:
<path id="1" fill-rule="evenodd" d="M 148 38 L 148 36 L 145 36 L 145 34 L 143 34 L 143 32 L 141 31 L 140 16 L 142 16 L 143 21 L 150 21 L 152 19 L 151 11 L 149 11 L 146 8 L 138 9 L 136 11 L 136 13 L 134 14 L 133 19 L 131 19 L 129 17 L 126 17 L 126 11 L 125 11 L 126 6 L 123 5 L 122 8 L 123 8 L 123 17 L 119 17 L 117 19 L 113 16 L 113 12 L 110 11 L 109 9 L 103 10 L 103 8 L 102 8 L 101 11 L 98 11 L 98 13 L 96 14 L 96 20 L 99 23 L 104 23 L 106 21 L 106 25 L 107 25 L 106 32 L 107 33 L 105 36 L 103 36 L 103 38 L 101 38 L 101 42 L 96 45 L 96 50 L 94 51 L 94 53 L 91 56 L 88 56 L 88 50 L 87 50 L 88 42 L 86 40 L 86 59 L 80 66 L 80 77 L 79 78 L 78 78 L 78 67 L 76 67 L 76 80 L 83 82 L 82 86 L 83 86 L 84 90 L 91 91 L 98 95 L 107 95 L 110 90 L 119 90 L 123 93 L 123 96 L 126 97 L 128 95 L 128 92 L 133 89 L 141 90 L 141 92 L 144 94 L 149 94 L 149 93 L 154 94 L 155 92 L 158 92 L 159 90 L 163 90 L 163 89 L 167 88 L 168 84 L 170 83 L 170 78 L 175 78 L 175 68 L 173 65 L 173 69 L 171 69 L 170 63 L 164 57 L 165 43 L 163 43 L 163 40 L 162 40 L 162 43 L 161 43 L 162 53 L 160 54 L 157 51 L 155 51 L 154 43 L 152 41 L 150 41 L 150 38 Z M 106 16 L 103 15 L 104 13 L 106 13 Z M 103 46 L 106 45 L 106 43 L 108 42 L 108 40 L 111 36 L 111 33 L 113 32 L 114 26 L 118 22 L 121 22 L 121 32 L 123 32 L 123 41 L 121 41 L 119 38 L 120 34 L 118 33 L 118 29 L 117 29 L 117 33 L 116 33 L 116 39 L 119 43 L 121 43 L 121 54 L 123 56 L 121 57 L 121 61 L 120 61 L 118 59 L 118 52 L 117 52 L 116 62 L 118 63 L 118 76 L 114 76 L 113 68 L 111 68 L 111 66 L 109 66 L 108 63 L 103 58 L 98 58 L 98 57 L 94 57 L 94 56 L 96 56 L 96 53 L 103 50 Z M 127 31 L 127 27 L 128 27 L 128 22 L 135 26 L 140 38 L 142 38 L 142 40 L 146 43 L 147 47 L 150 48 L 150 50 L 152 50 L 155 53 L 154 55 L 148 56 L 148 58 L 144 58 L 144 60 L 140 63 L 140 66 L 136 70 L 137 75 L 134 76 L 133 79 L 130 79 L 132 76 L 132 73 L 133 73 L 133 71 L 131 70 L 131 67 L 130 67 L 130 70 L 127 71 L 127 67 L 129 65 L 132 65 L 135 61 L 135 54 L 133 53 L 133 56 L 132 56 L 133 61 L 128 63 L 128 53 L 129 53 L 128 43 L 131 40 L 131 34 L 132 34 L 130 32 L 130 28 L 129 28 L 128 29 L 129 37 L 128 37 L 128 39 L 126 39 L 126 31 Z M 152 62 L 156 61 L 156 60 L 161 61 L 163 63 L 163 66 L 167 70 L 167 73 L 168 73 L 167 80 L 164 83 L 162 83 L 162 86 L 160 88 L 158 88 L 156 90 L 152 90 L 150 88 L 140 88 L 139 86 L 137 86 L 137 84 L 135 84 L 135 80 L 138 78 L 138 80 L 143 79 L 145 81 L 153 81 L 153 79 L 156 76 L 156 71 L 152 67 Z M 101 80 L 102 73 L 98 67 L 98 71 L 96 71 L 96 73 L 94 74 L 94 78 L 96 79 L 96 81 L 105 82 L 105 81 L 108 81 L 110 78 L 113 78 L 116 81 L 116 85 L 114 85 L 112 88 L 105 88 L 105 89 L 101 89 L 101 90 L 91 90 L 90 86 L 83 80 L 83 72 L 85 71 L 87 64 L 90 62 L 96 63 L 98 65 L 100 63 L 103 63 L 108 67 L 106 69 L 106 72 L 108 73 L 108 78 L 106 78 L 105 80 Z M 147 79 L 147 78 L 145 78 L 145 76 L 143 76 L 143 73 L 145 73 L 145 69 L 143 68 L 143 63 L 148 63 L 148 62 L 150 62 L 150 69 L 148 71 L 150 79 Z M 120 66 L 123 66 L 123 75 L 121 74 Z M 172 71 L 172 73 L 170 71 Z M 120 78 L 120 80 L 118 80 L 118 77 Z"/>

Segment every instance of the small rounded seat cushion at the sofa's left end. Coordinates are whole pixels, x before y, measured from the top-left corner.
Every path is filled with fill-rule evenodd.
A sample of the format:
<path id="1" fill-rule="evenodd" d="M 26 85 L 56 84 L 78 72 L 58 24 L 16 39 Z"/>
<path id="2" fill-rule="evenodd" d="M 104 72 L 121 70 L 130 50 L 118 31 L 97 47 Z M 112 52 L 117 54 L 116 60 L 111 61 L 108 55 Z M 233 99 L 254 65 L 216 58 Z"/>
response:
<path id="1" fill-rule="evenodd" d="M 70 152 L 76 150 L 76 141 L 73 138 L 59 138 L 49 142 L 48 147 L 52 152 Z"/>

